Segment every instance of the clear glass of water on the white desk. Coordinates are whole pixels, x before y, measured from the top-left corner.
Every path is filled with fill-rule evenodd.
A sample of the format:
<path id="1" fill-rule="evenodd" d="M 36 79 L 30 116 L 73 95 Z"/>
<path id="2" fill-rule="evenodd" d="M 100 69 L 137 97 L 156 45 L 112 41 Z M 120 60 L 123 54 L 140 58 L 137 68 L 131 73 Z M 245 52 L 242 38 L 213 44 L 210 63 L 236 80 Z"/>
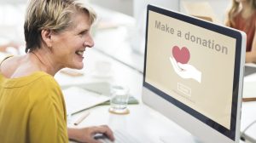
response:
<path id="1" fill-rule="evenodd" d="M 111 87 L 111 98 L 109 112 L 116 114 L 128 114 L 129 88 L 126 86 L 113 85 Z"/>

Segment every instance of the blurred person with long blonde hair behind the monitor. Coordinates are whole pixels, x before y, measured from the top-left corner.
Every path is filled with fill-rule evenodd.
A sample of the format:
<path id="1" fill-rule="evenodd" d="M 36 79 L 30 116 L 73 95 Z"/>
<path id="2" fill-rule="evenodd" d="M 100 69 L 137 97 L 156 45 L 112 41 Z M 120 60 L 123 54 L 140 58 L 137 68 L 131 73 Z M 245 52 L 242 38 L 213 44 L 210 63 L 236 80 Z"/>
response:
<path id="1" fill-rule="evenodd" d="M 256 63 L 256 0 L 233 0 L 226 26 L 247 34 L 246 62 Z"/>

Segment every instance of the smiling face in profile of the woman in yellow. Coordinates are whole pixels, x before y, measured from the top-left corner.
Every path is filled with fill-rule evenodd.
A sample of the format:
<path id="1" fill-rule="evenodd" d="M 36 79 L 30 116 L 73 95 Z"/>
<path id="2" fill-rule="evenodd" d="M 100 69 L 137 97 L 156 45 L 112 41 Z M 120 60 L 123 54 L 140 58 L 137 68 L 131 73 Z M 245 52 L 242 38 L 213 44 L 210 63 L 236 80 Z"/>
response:
<path id="1" fill-rule="evenodd" d="M 82 69 L 84 67 L 84 51 L 94 45 L 90 36 L 89 15 L 79 12 L 72 16 L 73 25 L 61 33 L 53 33 L 52 52 L 55 64 L 61 67 Z"/>

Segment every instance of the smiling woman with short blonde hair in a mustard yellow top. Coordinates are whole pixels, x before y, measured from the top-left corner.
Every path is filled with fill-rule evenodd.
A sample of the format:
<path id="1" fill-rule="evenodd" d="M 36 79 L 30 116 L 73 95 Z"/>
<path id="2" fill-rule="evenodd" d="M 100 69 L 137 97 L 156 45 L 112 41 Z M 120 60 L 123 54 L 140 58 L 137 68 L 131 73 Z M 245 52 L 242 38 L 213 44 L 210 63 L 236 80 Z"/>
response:
<path id="1" fill-rule="evenodd" d="M 24 25 L 26 54 L 0 66 L 2 143 L 62 143 L 68 138 L 94 143 L 94 135 L 113 140 L 106 125 L 67 129 L 63 95 L 55 73 L 81 69 L 84 51 L 94 45 L 90 26 L 96 14 L 76 0 L 30 0 Z"/>

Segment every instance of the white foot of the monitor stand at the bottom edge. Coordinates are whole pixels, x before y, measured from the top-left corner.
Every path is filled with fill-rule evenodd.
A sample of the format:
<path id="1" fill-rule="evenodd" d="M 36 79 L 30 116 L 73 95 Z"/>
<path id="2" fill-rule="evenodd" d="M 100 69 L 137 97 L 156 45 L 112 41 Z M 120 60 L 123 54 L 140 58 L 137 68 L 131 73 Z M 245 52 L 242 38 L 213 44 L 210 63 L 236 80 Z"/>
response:
<path id="1" fill-rule="evenodd" d="M 202 143 L 200 140 L 196 139 L 195 136 L 193 136 L 192 134 L 172 134 L 168 136 L 160 136 L 159 138 L 162 143 Z"/>

